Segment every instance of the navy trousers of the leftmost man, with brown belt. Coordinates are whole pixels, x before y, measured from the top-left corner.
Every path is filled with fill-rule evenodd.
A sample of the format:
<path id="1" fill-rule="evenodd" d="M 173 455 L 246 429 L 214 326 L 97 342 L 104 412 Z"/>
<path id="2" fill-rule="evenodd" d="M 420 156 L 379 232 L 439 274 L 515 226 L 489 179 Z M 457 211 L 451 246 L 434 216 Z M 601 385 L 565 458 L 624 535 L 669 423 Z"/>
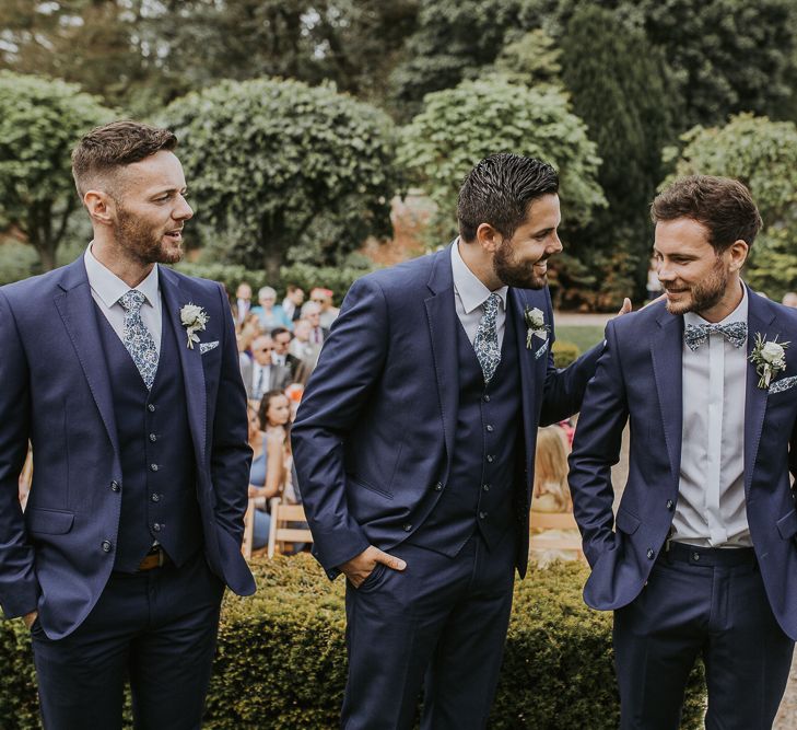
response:
<path id="1" fill-rule="evenodd" d="M 223 592 L 199 551 L 180 568 L 112 573 L 85 622 L 63 639 L 34 623 L 46 730 L 121 728 L 128 677 L 136 728 L 199 728 Z"/>

